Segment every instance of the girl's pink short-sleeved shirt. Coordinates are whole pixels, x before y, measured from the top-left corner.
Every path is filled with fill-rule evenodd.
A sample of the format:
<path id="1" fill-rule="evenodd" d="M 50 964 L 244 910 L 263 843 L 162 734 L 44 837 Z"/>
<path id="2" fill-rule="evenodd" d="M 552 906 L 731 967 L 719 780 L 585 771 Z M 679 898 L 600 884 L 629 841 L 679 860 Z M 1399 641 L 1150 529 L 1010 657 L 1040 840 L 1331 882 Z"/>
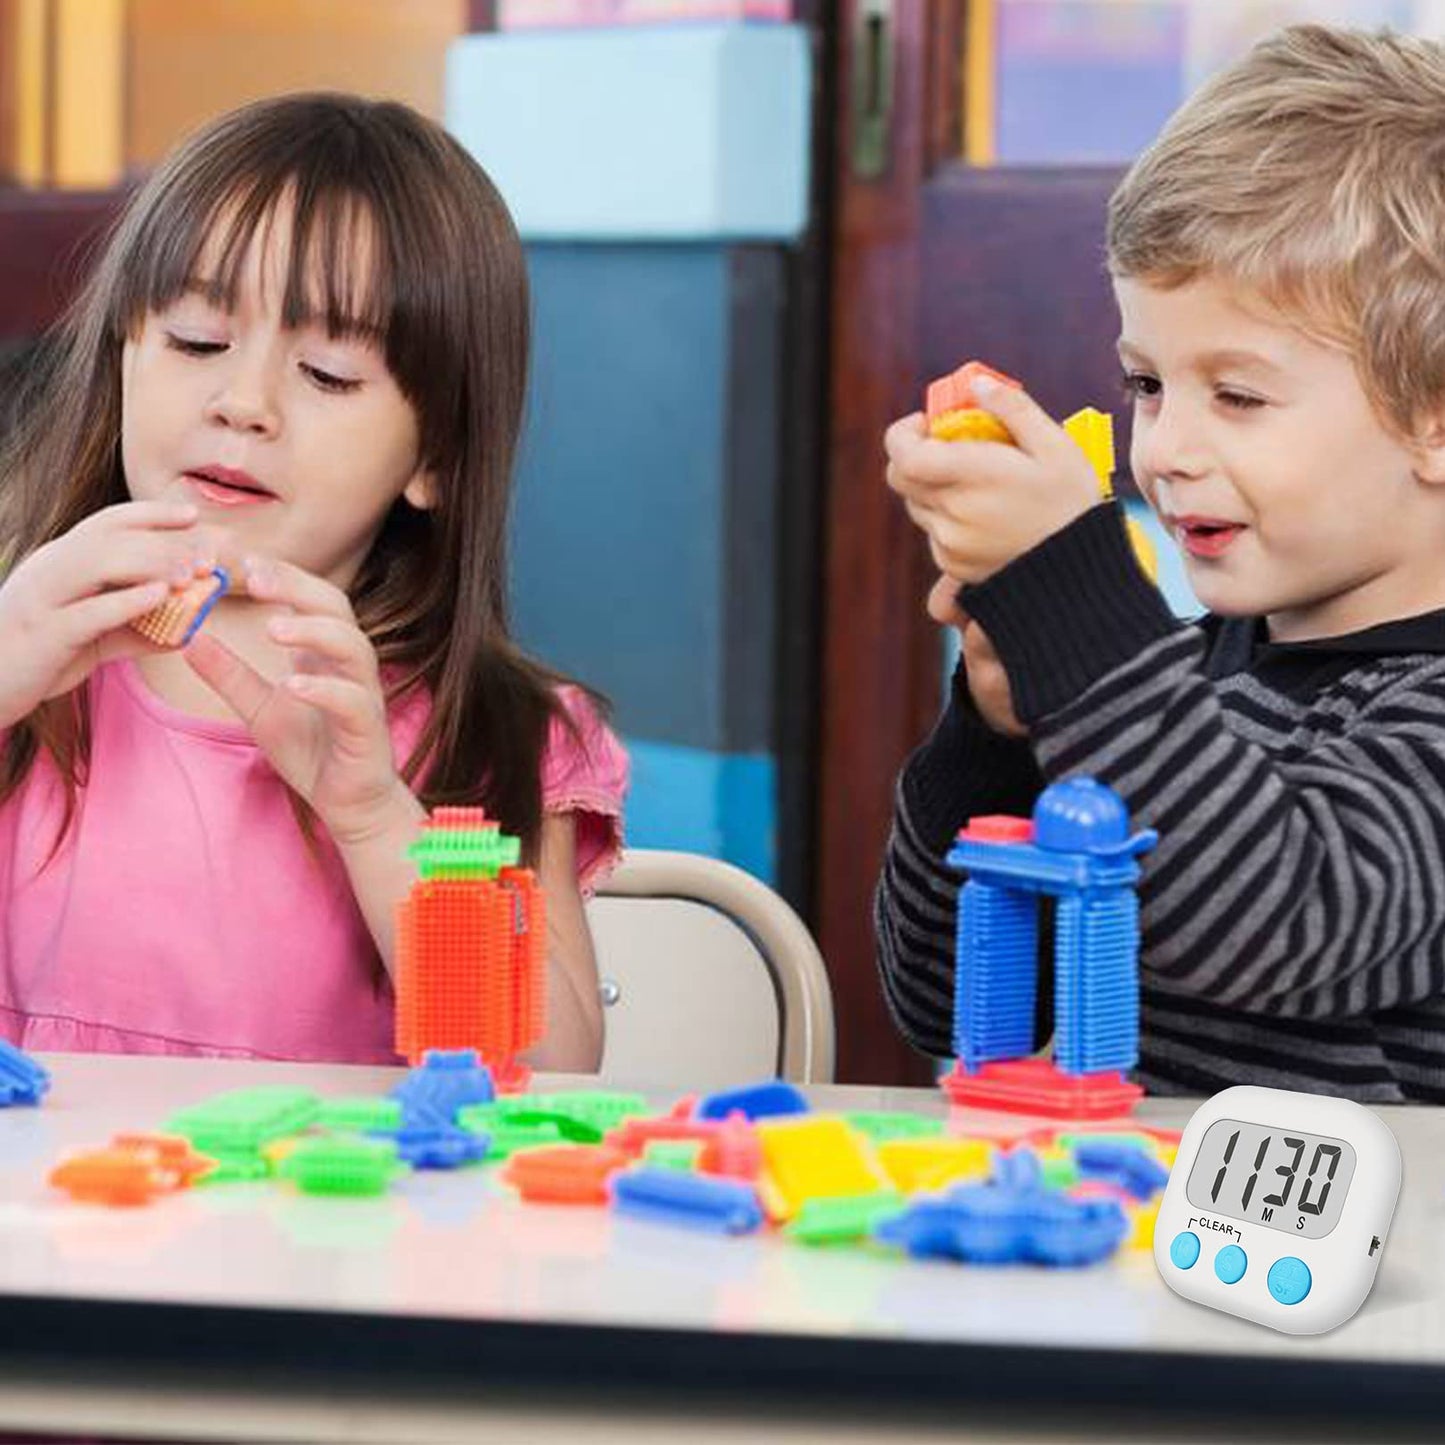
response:
<path id="1" fill-rule="evenodd" d="M 627 757 L 566 689 L 548 812 L 577 818 L 578 877 L 617 858 Z M 394 1064 L 392 991 L 341 860 L 308 851 L 286 785 L 240 722 L 162 702 L 133 663 L 92 676 L 91 773 L 45 867 L 64 790 L 42 754 L 0 808 L 0 1036 L 27 1049 Z M 394 709 L 406 759 L 428 711 Z M 3 734 L 0 734 L 3 736 Z"/>

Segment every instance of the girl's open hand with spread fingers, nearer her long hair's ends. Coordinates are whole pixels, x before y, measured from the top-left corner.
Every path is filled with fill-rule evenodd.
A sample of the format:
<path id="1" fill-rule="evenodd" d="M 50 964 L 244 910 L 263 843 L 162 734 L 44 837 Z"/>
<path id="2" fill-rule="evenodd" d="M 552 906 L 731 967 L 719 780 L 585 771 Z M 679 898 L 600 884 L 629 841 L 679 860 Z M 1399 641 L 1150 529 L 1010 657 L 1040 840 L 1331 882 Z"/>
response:
<path id="1" fill-rule="evenodd" d="M 275 559 L 249 561 L 244 572 L 251 598 L 289 608 L 267 631 L 292 649 L 293 670 L 272 682 L 205 631 L 186 647 L 186 660 L 236 709 L 338 847 L 366 842 L 410 799 L 392 757 L 376 650 L 331 582 Z"/>

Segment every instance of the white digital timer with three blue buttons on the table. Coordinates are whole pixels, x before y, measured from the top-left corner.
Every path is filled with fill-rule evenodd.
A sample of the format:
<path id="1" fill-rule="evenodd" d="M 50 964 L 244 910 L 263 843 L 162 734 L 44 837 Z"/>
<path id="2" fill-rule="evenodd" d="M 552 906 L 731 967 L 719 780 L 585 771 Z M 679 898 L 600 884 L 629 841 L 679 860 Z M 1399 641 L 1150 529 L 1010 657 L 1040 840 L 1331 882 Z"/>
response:
<path id="1" fill-rule="evenodd" d="M 1364 1303 L 1399 1194 L 1400 1146 L 1368 1108 L 1227 1088 L 1179 1142 L 1155 1263 L 1185 1299 L 1315 1335 Z"/>

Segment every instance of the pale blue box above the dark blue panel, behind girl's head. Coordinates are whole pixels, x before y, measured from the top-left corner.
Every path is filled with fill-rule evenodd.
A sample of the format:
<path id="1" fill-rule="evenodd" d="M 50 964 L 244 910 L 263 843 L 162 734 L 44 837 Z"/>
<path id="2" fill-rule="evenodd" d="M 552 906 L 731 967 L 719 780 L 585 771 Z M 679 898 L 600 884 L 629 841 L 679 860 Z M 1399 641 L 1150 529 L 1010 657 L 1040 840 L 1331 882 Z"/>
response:
<path id="1" fill-rule="evenodd" d="M 801 26 L 468 35 L 447 127 L 529 240 L 777 240 L 808 218 Z"/>

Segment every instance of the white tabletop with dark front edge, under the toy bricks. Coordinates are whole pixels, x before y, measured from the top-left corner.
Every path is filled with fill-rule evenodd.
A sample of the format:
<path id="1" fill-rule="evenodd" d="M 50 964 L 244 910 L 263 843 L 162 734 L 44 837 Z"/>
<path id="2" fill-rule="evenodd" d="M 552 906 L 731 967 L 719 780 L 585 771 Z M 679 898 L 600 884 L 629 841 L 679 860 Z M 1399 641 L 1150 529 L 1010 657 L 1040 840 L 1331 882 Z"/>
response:
<path id="1" fill-rule="evenodd" d="M 675 1438 L 675 1412 L 725 1400 L 731 1415 L 711 1429 L 736 1436 L 698 1420 L 688 1433 L 762 1438 L 766 1422 L 770 1439 L 957 1439 L 967 1412 L 977 1438 L 1094 1428 L 1118 1439 L 1133 1410 L 1147 1438 L 1159 1412 L 1186 1406 L 1231 1413 L 1228 1435 L 1243 1439 L 1270 1400 L 1298 1400 L 1314 1420 L 1361 1392 L 1386 1392 L 1383 1416 L 1445 1402 L 1438 1110 L 1380 1111 L 1406 1163 L 1374 1292 L 1342 1329 L 1293 1338 L 1178 1299 L 1146 1251 L 1043 1270 L 808 1250 L 526 1205 L 490 1170 L 413 1173 L 377 1199 L 254 1183 L 139 1209 L 79 1205 L 45 1176 L 113 1133 L 230 1088 L 381 1094 L 399 1075 L 45 1062 L 45 1104 L 0 1111 L 0 1429 L 428 1441 L 551 1429 L 577 1445 L 624 1428 L 646 1439 L 649 1422 Z M 945 1113 L 925 1091 L 812 1094 L 822 1108 Z M 1140 1117 L 1178 1127 L 1191 1108 L 1149 1103 Z M 1020 1120 L 970 1127 L 1017 1131 Z M 1051 1413 L 1087 1402 L 1104 1413 Z M 1260 1438 L 1292 1438 L 1285 1423 L 1263 1420 Z"/>

